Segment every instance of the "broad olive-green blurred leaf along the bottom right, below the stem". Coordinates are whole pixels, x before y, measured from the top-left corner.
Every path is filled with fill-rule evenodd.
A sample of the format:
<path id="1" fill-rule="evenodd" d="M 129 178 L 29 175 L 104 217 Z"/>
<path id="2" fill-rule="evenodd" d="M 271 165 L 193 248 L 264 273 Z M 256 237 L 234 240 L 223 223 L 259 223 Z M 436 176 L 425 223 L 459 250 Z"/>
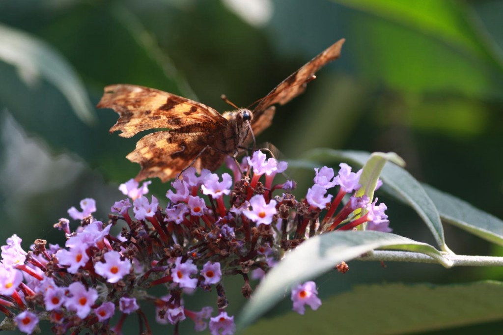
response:
<path id="1" fill-rule="evenodd" d="M 320 292 L 322 294 L 322 292 Z M 261 320 L 244 334 L 403 334 L 503 319 L 500 282 L 368 285 L 321 298 L 316 311 Z M 363 318 L 363 319 L 362 319 Z"/>

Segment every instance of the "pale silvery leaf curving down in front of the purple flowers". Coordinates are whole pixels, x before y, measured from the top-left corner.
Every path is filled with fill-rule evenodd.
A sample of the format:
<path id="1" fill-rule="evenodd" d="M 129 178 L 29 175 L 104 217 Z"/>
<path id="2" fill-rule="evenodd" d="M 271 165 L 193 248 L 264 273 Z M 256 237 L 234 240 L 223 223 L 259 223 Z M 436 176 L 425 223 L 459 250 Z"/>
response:
<path id="1" fill-rule="evenodd" d="M 240 323 L 248 324 L 287 294 L 293 284 L 312 279 L 373 249 L 387 248 L 422 253 L 445 267 L 452 263 L 433 246 L 378 231 L 336 231 L 312 237 L 289 253 L 268 273 L 253 299 L 245 306 Z"/>

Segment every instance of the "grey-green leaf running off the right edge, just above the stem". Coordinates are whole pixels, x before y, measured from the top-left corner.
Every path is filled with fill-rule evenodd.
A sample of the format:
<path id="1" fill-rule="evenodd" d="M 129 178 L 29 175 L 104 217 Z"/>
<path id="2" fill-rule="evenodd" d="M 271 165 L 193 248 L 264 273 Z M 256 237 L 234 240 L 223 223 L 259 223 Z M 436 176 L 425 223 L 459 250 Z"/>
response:
<path id="1" fill-rule="evenodd" d="M 443 221 L 503 245 L 503 221 L 452 195 L 423 184 L 428 196 L 435 202 Z"/>

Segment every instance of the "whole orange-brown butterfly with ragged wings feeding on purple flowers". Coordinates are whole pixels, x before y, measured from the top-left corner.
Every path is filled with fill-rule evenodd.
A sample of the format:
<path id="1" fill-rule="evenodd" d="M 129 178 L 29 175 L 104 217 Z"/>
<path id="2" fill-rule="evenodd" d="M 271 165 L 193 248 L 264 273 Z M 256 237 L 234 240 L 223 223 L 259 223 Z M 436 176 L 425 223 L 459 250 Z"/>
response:
<path id="1" fill-rule="evenodd" d="M 339 58 L 344 39 L 332 44 L 283 80 L 253 110 L 237 108 L 218 113 L 199 102 L 136 85 L 107 86 L 98 108 L 119 114 L 110 133 L 131 137 L 141 131 L 164 128 L 141 138 L 126 158 L 139 163 L 136 181 L 158 177 L 162 182 L 177 177 L 193 165 L 198 171 L 214 171 L 227 155 L 236 155 L 268 128 L 276 112 L 302 92 L 314 73 Z"/>

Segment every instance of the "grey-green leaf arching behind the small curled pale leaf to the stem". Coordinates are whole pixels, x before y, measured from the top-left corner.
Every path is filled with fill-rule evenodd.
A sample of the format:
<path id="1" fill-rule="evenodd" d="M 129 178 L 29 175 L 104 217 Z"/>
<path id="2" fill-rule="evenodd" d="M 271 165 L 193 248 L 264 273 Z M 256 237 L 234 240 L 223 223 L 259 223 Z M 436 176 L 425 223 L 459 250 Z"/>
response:
<path id="1" fill-rule="evenodd" d="M 370 154 L 363 151 L 341 151 L 332 149 L 314 149 L 304 155 L 306 160 L 317 161 L 349 161 L 356 165 L 363 165 Z M 409 204 L 430 228 L 440 248 L 450 252 L 445 243 L 444 228 L 435 203 L 430 199 L 421 184 L 407 171 L 394 164 L 386 164 L 382 170 L 383 183 L 396 192 L 397 196 Z"/>

